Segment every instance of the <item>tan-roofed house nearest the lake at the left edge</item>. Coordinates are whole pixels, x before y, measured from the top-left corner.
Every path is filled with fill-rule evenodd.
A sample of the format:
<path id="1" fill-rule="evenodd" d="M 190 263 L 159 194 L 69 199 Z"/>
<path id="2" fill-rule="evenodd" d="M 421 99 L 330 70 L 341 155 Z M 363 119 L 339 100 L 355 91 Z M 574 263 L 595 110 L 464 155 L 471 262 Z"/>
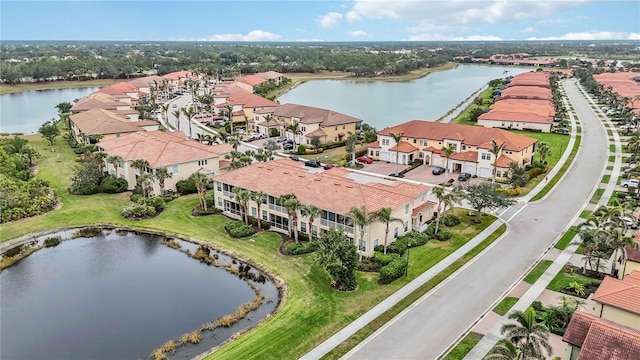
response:
<path id="1" fill-rule="evenodd" d="M 73 114 L 71 134 L 80 143 L 95 143 L 96 139 L 108 140 L 122 134 L 158 129 L 158 123 L 151 120 L 131 121 L 113 111 L 93 109 Z"/>

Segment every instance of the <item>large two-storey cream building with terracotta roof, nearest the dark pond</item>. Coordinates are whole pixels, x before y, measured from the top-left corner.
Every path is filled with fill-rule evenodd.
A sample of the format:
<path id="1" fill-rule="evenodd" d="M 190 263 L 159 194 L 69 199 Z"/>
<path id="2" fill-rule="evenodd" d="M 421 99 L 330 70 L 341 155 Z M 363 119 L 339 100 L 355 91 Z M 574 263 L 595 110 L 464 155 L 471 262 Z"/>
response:
<path id="1" fill-rule="evenodd" d="M 365 227 L 364 240 L 360 241 L 360 229 L 348 213 L 352 207 L 371 213 L 391 208 L 392 217 L 402 221 L 389 226 L 388 242 L 412 229 L 423 229 L 435 211 L 435 204 L 427 200 L 429 188 L 405 181 L 388 181 L 379 178 L 362 180 L 344 169 L 333 168 L 311 172 L 300 162 L 281 158 L 266 163 L 255 163 L 227 173 L 216 175 L 215 206 L 225 214 L 240 218 L 241 204 L 235 200 L 234 188 L 251 192 L 262 191 L 268 195 L 264 203 L 250 201 L 249 216 L 271 224 L 271 229 L 287 233 L 290 218 L 287 209 L 279 201 L 285 194 L 295 194 L 303 205 L 315 205 L 322 210 L 313 220 L 296 212 L 293 226 L 302 233 L 322 236 L 329 228 L 342 227 L 347 236 L 358 241 L 358 251 L 372 256 L 374 247 L 383 245 L 386 226 L 372 223 Z"/>

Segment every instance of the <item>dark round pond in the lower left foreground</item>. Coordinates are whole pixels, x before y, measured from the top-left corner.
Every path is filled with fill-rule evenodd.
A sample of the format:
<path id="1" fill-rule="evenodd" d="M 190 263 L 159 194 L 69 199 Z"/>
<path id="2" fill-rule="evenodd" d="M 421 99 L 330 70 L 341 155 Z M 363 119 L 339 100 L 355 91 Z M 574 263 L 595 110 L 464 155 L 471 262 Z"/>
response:
<path id="1" fill-rule="evenodd" d="M 74 231 L 60 236 L 70 239 Z M 261 305 L 230 328 L 202 331 L 199 344 L 177 348 L 170 358 L 191 358 L 273 312 L 278 289 L 256 269 L 252 280 L 222 266 L 245 266 L 212 251 L 221 266 L 187 256 L 198 245 L 126 231 L 43 248 L 0 273 L 0 348 L 6 359 L 136 359 L 170 339 L 232 314 L 264 296 Z M 252 288 L 253 286 L 253 288 Z"/>

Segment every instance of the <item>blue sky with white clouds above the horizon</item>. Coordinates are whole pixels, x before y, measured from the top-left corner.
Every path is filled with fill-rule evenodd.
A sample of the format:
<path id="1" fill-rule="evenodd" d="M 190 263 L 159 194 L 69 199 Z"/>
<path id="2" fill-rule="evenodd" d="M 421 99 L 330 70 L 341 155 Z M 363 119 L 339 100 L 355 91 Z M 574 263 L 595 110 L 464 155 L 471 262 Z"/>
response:
<path id="1" fill-rule="evenodd" d="M 638 40 L 640 1 L 0 1 L 0 40 Z"/>

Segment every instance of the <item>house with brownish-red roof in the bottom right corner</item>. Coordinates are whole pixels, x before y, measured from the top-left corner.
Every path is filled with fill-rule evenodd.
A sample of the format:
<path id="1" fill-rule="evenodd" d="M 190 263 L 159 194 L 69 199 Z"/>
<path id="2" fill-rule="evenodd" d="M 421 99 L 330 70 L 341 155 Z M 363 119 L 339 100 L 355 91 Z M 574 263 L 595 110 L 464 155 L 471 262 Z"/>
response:
<path id="1" fill-rule="evenodd" d="M 637 360 L 640 331 L 576 311 L 562 341 L 566 360 Z"/>

